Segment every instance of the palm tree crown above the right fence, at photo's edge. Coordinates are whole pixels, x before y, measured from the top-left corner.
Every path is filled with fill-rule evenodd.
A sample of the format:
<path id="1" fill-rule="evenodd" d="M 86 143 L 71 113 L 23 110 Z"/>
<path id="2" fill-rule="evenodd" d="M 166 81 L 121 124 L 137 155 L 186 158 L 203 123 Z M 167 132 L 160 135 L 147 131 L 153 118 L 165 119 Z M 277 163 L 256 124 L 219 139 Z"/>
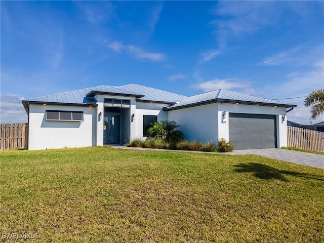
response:
<path id="1" fill-rule="evenodd" d="M 324 89 L 316 90 L 310 93 L 305 99 L 306 107 L 312 106 L 312 118 L 316 118 L 324 112 Z"/>

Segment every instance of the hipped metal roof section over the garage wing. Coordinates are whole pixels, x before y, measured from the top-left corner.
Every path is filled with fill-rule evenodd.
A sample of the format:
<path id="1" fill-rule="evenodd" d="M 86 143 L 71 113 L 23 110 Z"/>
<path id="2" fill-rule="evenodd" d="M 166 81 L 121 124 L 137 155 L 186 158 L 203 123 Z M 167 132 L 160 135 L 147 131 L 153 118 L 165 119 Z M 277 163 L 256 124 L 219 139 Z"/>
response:
<path id="1" fill-rule="evenodd" d="M 182 102 L 166 107 L 165 110 L 181 109 L 207 103 L 224 102 L 224 103 L 241 103 L 241 104 L 259 104 L 259 105 L 276 105 L 281 107 L 295 107 L 296 105 L 284 104 L 276 100 L 260 98 L 253 95 L 238 93 L 230 90 L 214 90 L 199 95 L 193 95 L 185 98 Z"/>

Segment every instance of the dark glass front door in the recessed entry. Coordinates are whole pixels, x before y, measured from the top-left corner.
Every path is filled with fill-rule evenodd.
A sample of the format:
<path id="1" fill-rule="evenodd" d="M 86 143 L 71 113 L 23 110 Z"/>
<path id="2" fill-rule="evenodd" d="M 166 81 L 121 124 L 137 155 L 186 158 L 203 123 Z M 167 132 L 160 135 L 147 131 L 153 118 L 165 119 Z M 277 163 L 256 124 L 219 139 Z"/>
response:
<path id="1" fill-rule="evenodd" d="M 103 120 L 103 144 L 120 143 L 120 115 L 107 115 Z"/>

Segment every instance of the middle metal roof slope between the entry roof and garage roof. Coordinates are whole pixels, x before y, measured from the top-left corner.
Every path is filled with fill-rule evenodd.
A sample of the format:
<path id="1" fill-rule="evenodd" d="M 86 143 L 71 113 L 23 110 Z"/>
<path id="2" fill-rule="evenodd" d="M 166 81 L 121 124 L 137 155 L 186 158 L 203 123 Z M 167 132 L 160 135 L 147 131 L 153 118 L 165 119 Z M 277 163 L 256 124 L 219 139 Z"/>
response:
<path id="1" fill-rule="evenodd" d="M 184 95 L 179 95 L 164 90 L 158 90 L 143 85 L 129 84 L 119 86 L 117 88 L 144 95 L 143 98 L 139 99 L 142 101 L 159 101 L 172 104 L 180 102 L 184 98 L 186 98 L 186 96 Z"/>

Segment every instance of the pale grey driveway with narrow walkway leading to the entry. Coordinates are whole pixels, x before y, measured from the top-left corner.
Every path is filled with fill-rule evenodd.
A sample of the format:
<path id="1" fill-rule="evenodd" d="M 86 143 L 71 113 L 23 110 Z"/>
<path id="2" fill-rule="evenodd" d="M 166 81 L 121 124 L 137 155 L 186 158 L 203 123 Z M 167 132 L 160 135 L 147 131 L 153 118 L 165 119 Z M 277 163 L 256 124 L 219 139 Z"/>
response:
<path id="1" fill-rule="evenodd" d="M 194 152 L 194 153 L 211 153 L 211 152 L 200 152 L 200 151 L 183 151 L 183 150 L 167 150 L 167 149 L 156 149 L 156 148 L 133 148 L 126 146 L 111 146 L 113 148 L 123 149 L 135 149 L 135 150 L 156 150 L 156 151 L 177 151 L 177 152 Z M 245 149 L 245 150 L 234 150 L 229 153 L 217 153 L 225 155 L 246 155 L 256 154 L 267 158 L 274 158 L 282 161 L 287 161 L 304 166 L 312 166 L 320 169 L 324 169 L 324 155 L 315 153 L 299 152 L 287 149 L 278 148 L 265 148 L 265 149 Z"/>

